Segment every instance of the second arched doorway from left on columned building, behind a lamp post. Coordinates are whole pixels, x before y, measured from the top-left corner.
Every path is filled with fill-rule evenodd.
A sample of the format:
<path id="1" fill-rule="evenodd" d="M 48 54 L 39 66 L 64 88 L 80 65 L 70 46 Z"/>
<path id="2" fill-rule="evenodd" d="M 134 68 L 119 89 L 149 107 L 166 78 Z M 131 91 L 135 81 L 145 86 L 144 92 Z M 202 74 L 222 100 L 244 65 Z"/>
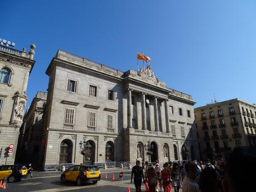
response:
<path id="1" fill-rule="evenodd" d="M 95 161 L 95 143 L 91 140 L 84 145 L 83 164 L 93 165 Z"/>

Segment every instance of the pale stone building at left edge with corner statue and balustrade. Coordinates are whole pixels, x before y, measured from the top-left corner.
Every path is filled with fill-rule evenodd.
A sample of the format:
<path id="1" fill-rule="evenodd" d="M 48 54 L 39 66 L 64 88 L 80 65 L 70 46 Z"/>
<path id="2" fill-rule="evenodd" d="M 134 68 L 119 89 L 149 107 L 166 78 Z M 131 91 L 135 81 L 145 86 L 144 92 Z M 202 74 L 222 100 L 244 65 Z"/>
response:
<path id="1" fill-rule="evenodd" d="M 35 45 L 26 53 L 0 45 L 0 165 L 13 164 L 19 128 L 27 102 L 27 82 L 35 61 Z M 13 144 L 12 154 L 8 154 Z"/>

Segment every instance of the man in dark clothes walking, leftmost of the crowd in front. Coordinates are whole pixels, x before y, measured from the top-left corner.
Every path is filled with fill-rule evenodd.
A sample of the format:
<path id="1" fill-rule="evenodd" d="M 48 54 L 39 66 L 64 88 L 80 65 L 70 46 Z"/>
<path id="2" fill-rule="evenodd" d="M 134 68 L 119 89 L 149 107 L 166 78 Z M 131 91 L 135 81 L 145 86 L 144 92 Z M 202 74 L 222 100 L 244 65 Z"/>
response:
<path id="1" fill-rule="evenodd" d="M 142 178 L 144 183 L 145 183 L 145 178 L 144 178 L 143 169 L 140 166 L 139 160 L 136 161 L 136 165 L 131 170 L 131 183 L 132 183 L 132 178 L 134 178 L 134 185 L 136 188 L 136 192 L 141 192 Z"/>

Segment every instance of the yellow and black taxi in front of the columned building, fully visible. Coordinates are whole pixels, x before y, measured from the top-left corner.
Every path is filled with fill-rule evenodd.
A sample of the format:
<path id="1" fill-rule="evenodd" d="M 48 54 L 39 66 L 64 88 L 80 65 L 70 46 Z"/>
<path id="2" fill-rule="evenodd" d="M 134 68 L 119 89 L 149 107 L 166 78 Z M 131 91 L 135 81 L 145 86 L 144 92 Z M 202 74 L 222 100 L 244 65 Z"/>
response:
<path id="1" fill-rule="evenodd" d="M 75 181 L 77 185 L 92 181 L 96 184 L 101 179 L 97 166 L 74 165 L 61 174 L 61 182 Z"/>

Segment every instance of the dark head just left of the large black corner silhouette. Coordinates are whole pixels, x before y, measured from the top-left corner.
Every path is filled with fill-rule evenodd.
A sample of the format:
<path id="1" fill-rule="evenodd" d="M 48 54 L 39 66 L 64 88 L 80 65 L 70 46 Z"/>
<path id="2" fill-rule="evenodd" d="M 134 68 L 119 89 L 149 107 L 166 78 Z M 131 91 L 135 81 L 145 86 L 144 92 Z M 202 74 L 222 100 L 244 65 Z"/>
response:
<path id="1" fill-rule="evenodd" d="M 200 174 L 199 186 L 201 192 L 220 192 L 222 186 L 218 172 L 213 168 L 205 168 Z"/>

